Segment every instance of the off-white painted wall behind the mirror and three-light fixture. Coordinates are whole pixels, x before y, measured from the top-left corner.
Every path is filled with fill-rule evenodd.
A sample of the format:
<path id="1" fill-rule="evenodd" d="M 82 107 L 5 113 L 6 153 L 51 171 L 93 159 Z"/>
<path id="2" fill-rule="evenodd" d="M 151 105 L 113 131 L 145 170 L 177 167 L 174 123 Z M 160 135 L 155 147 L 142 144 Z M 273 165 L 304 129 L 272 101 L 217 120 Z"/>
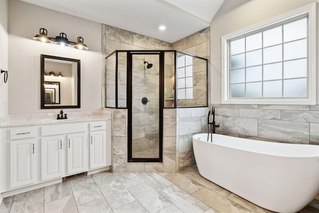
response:
<path id="1" fill-rule="evenodd" d="M 39 34 L 42 27 L 48 30 L 50 37 L 64 32 L 70 41 L 76 41 L 78 36 L 82 36 L 89 50 L 33 40 L 32 37 Z M 68 111 L 101 110 L 103 56 L 100 23 L 23 1 L 9 0 L 8 33 L 9 114 L 59 111 L 40 109 L 41 54 L 81 60 L 81 108 Z"/>

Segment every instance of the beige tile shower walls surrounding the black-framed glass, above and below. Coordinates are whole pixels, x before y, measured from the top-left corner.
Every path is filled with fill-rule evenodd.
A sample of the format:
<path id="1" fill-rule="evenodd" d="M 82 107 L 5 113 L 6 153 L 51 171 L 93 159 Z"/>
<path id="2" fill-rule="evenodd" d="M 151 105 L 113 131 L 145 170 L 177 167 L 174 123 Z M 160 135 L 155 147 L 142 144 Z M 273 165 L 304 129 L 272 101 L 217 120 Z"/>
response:
<path id="1" fill-rule="evenodd" d="M 203 58 L 210 58 L 209 28 L 187 36 L 173 44 L 148 36 L 139 35 L 112 26 L 102 25 L 102 51 L 105 56 L 114 50 L 180 50 Z M 125 56 L 124 56 L 125 57 Z M 168 57 L 167 57 L 168 58 Z M 209 63 L 209 62 L 208 62 Z M 165 65 L 166 78 L 171 78 L 170 63 Z M 208 67 L 210 65 L 208 64 Z M 209 70 L 208 70 L 208 73 Z M 105 107 L 105 87 L 110 79 L 102 73 L 102 102 Z M 207 79 L 210 79 L 208 76 Z M 198 79 L 197 79 L 198 80 Z M 169 81 L 167 81 L 169 82 Z M 109 82 L 112 83 L 112 82 Z M 165 97 L 169 97 L 172 84 L 165 85 Z M 208 82 L 208 92 L 210 83 Z M 210 97 L 210 93 L 208 94 Z M 208 100 L 209 101 L 209 100 Z M 168 102 L 167 102 L 168 103 Z M 191 136 L 205 132 L 203 125 L 208 108 L 164 109 L 163 111 L 163 163 L 126 163 L 127 162 L 127 114 L 126 109 L 105 109 L 113 113 L 113 172 L 177 172 L 195 164 Z"/>

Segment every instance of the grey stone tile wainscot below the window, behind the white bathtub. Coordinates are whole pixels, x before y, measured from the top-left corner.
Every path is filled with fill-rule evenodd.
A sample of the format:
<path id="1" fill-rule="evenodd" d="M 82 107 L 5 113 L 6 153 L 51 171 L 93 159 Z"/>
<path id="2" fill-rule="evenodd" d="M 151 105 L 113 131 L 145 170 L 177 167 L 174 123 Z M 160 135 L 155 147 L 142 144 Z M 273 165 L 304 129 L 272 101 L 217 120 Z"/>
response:
<path id="1" fill-rule="evenodd" d="M 214 104 L 216 133 L 319 145 L 319 106 Z"/>

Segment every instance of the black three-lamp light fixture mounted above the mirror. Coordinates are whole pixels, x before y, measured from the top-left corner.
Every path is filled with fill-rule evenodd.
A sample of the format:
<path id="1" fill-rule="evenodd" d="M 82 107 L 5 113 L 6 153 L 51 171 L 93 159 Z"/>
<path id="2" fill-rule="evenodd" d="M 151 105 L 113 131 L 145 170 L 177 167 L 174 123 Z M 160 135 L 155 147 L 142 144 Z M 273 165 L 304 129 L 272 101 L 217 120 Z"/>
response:
<path id="1" fill-rule="evenodd" d="M 83 43 L 82 37 L 78 37 L 77 42 L 73 42 L 67 39 L 66 34 L 64 32 L 61 32 L 59 36 L 56 36 L 55 38 L 51 38 L 51 37 L 48 37 L 48 33 L 45 28 L 40 28 L 40 34 L 36 34 L 33 37 L 33 39 L 37 41 L 45 42 L 45 43 L 55 43 L 61 46 L 72 46 L 76 49 L 84 49 L 84 50 L 89 49 L 87 45 Z"/>

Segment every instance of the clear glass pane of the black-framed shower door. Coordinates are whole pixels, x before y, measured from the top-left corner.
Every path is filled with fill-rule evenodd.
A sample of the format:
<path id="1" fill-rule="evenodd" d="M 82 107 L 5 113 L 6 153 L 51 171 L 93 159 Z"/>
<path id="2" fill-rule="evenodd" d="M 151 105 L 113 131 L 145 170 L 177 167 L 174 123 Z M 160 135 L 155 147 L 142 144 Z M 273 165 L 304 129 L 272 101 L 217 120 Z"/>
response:
<path id="1" fill-rule="evenodd" d="M 131 74 L 132 159 L 160 159 L 160 54 L 132 54 Z"/>

